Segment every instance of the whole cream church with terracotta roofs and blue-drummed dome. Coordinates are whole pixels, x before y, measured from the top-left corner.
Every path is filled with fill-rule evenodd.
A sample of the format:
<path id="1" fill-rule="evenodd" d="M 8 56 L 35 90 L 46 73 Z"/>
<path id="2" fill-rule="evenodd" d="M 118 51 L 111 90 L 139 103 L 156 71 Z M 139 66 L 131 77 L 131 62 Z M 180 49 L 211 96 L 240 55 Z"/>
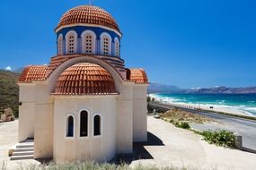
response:
<path id="1" fill-rule="evenodd" d="M 19 141 L 33 140 L 34 158 L 56 163 L 109 161 L 147 140 L 143 69 L 120 57 L 122 33 L 93 5 L 70 9 L 55 29 L 57 55 L 19 78 Z"/>

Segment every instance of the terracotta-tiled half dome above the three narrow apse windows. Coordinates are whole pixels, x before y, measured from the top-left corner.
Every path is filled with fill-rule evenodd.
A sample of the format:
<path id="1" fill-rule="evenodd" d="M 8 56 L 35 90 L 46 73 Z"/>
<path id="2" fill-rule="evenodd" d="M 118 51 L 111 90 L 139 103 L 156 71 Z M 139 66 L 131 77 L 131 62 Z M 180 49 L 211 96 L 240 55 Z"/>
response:
<path id="1" fill-rule="evenodd" d="M 118 94 L 115 82 L 100 65 L 75 64 L 62 72 L 57 79 L 57 95 L 110 95 Z"/>

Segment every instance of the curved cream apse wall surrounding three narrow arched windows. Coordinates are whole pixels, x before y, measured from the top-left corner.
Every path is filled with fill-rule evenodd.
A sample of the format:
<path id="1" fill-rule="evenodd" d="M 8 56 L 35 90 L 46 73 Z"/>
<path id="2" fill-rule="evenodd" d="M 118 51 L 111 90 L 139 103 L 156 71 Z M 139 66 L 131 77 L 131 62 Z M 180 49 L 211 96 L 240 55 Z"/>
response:
<path id="1" fill-rule="evenodd" d="M 88 137 L 80 137 L 80 112 L 89 114 Z M 75 137 L 66 138 L 66 116 L 75 117 Z M 93 136 L 93 115 L 101 115 L 102 135 Z M 108 161 L 115 157 L 116 96 L 55 97 L 54 159 L 67 161 Z"/>

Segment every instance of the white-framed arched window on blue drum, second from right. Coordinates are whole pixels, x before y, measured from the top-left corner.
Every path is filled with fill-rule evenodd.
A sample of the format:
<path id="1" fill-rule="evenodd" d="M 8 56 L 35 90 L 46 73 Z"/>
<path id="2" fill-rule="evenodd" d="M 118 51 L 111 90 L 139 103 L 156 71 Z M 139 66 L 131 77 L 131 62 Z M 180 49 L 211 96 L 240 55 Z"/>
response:
<path id="1" fill-rule="evenodd" d="M 102 33 L 101 36 L 101 50 L 102 55 L 111 55 L 111 37 L 107 33 Z"/>

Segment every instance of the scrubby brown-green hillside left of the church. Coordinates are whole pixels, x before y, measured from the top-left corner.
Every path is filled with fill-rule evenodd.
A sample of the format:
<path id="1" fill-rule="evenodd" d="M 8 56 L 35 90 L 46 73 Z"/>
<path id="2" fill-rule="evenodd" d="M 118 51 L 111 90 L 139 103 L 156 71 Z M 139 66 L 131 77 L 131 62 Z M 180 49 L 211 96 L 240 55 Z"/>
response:
<path id="1" fill-rule="evenodd" d="M 18 112 L 19 106 L 19 87 L 16 81 L 19 73 L 0 70 L 0 112 L 4 108 L 13 108 L 13 113 Z"/>

